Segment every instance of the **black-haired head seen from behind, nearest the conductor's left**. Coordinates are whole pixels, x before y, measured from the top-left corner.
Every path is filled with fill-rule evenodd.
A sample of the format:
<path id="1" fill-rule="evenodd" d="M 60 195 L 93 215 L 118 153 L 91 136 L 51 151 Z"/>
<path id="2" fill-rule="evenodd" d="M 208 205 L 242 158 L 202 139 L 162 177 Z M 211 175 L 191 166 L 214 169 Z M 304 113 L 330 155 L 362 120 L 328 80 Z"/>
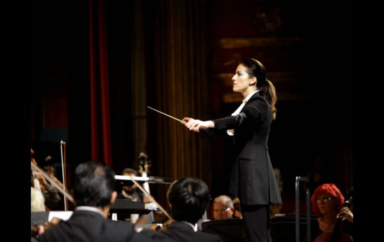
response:
<path id="1" fill-rule="evenodd" d="M 210 196 L 203 181 L 184 177 L 170 186 L 167 198 L 175 220 L 195 224 L 207 209 Z"/>

